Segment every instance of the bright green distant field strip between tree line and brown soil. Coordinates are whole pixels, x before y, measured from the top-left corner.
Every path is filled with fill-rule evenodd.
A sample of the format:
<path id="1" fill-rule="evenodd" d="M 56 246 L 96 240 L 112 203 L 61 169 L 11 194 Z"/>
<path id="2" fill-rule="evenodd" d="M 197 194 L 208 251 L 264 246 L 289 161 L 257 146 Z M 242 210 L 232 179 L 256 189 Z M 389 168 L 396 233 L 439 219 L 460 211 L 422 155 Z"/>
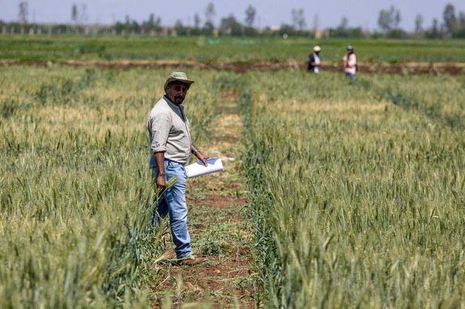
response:
<path id="1" fill-rule="evenodd" d="M 358 60 L 382 62 L 465 62 L 464 40 L 367 40 L 220 37 L 209 44 L 208 37 L 51 37 L 2 35 L 0 60 L 21 62 L 65 62 L 67 60 L 178 60 L 201 63 L 253 64 L 256 62 L 307 62 L 315 44 L 321 45 L 321 59 L 341 61 L 348 44 Z"/>

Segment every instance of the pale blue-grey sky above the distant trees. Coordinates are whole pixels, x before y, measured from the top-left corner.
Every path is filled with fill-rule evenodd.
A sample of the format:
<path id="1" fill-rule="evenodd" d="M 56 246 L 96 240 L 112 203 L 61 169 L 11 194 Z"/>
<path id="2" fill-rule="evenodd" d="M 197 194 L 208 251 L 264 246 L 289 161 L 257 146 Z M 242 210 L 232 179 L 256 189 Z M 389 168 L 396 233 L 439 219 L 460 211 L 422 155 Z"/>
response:
<path id="1" fill-rule="evenodd" d="M 443 22 L 443 10 L 446 4 L 455 6 L 455 15 L 465 12 L 463 0 L 23 0 L 28 2 L 28 21 L 37 23 L 71 23 L 71 7 L 76 3 L 78 10 L 87 6 L 88 24 L 112 24 L 124 21 L 126 15 L 138 23 L 149 19 L 150 13 L 161 17 L 162 26 L 173 26 L 180 19 L 185 26 L 194 24 L 194 15 L 205 23 L 205 8 L 209 2 L 214 3 L 216 17 L 214 26 L 219 26 L 222 17 L 231 13 L 237 21 L 244 24 L 246 8 L 251 5 L 256 11 L 255 26 L 280 26 L 291 24 L 291 10 L 303 8 L 306 29 L 314 28 L 315 16 L 318 28 L 335 28 L 341 23 L 342 17 L 348 18 L 348 26 L 360 26 L 364 30 L 379 30 L 378 15 L 380 10 L 389 9 L 393 5 L 400 10 L 400 28 L 412 31 L 416 15 L 423 15 L 423 28 L 430 28 L 436 18 L 439 24 Z M 0 0 L 0 20 L 17 21 L 19 0 Z"/>

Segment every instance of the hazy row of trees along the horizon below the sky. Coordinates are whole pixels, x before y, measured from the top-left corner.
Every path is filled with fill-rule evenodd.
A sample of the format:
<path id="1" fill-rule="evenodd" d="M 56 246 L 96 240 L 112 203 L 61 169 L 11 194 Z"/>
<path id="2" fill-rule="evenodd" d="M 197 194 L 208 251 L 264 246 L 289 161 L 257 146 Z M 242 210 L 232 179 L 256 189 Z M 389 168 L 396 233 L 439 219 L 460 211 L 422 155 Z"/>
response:
<path id="1" fill-rule="evenodd" d="M 35 24 L 28 23 L 28 2 L 19 3 L 18 21 L 5 23 L 0 21 L 1 33 L 30 33 L 30 34 L 62 34 L 62 33 L 81 33 L 81 34 L 105 34 L 112 33 L 115 35 L 232 35 L 255 37 L 259 35 L 281 35 L 287 36 L 324 36 L 324 37 L 389 37 L 389 38 L 448 38 L 448 37 L 465 37 L 465 13 L 455 13 L 455 7 L 448 3 L 443 9 L 443 22 L 437 19 L 432 20 L 429 27 L 424 26 L 423 16 L 418 14 L 415 19 L 415 28 L 413 33 L 407 33 L 399 27 L 402 17 L 400 10 L 394 6 L 382 9 L 378 15 L 379 30 L 369 32 L 362 27 L 349 27 L 348 18 L 342 17 L 340 24 L 334 28 L 327 28 L 319 31 L 319 16 L 314 15 L 312 29 L 307 28 L 303 8 L 291 10 L 291 23 L 283 23 L 278 27 L 256 26 L 257 10 L 253 6 L 248 6 L 244 11 L 244 22 L 239 21 L 233 14 L 221 18 L 219 25 L 215 26 L 213 19 L 217 15 L 212 2 L 208 3 L 204 10 L 204 19 L 200 15 L 194 15 L 194 24 L 186 25 L 181 19 L 176 20 L 174 26 L 162 26 L 161 17 L 156 17 L 150 13 L 149 18 L 141 23 L 131 20 L 126 15 L 124 21 L 116 21 L 110 26 L 89 25 L 87 17 L 87 6 L 82 4 L 78 7 L 76 4 L 71 6 L 71 24 Z"/>

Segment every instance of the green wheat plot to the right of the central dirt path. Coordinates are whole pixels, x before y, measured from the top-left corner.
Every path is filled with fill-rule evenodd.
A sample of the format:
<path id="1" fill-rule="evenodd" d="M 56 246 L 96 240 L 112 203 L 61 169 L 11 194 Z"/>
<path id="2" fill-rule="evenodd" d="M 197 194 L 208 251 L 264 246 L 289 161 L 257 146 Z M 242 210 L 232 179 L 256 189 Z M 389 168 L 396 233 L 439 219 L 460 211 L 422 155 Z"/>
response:
<path id="1" fill-rule="evenodd" d="M 260 108 L 245 165 L 265 306 L 463 303 L 464 78 L 249 78 Z"/>

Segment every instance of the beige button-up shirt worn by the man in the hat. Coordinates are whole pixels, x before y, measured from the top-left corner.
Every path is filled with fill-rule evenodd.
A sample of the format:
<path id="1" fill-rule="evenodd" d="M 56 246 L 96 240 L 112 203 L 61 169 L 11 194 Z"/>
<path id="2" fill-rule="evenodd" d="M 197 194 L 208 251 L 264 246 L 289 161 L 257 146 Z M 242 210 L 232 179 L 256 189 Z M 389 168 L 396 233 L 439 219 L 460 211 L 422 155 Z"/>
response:
<path id="1" fill-rule="evenodd" d="M 191 152 L 189 121 L 184 107 L 163 96 L 153 107 L 147 121 L 150 153 L 164 152 L 164 158 L 186 164 Z"/>

